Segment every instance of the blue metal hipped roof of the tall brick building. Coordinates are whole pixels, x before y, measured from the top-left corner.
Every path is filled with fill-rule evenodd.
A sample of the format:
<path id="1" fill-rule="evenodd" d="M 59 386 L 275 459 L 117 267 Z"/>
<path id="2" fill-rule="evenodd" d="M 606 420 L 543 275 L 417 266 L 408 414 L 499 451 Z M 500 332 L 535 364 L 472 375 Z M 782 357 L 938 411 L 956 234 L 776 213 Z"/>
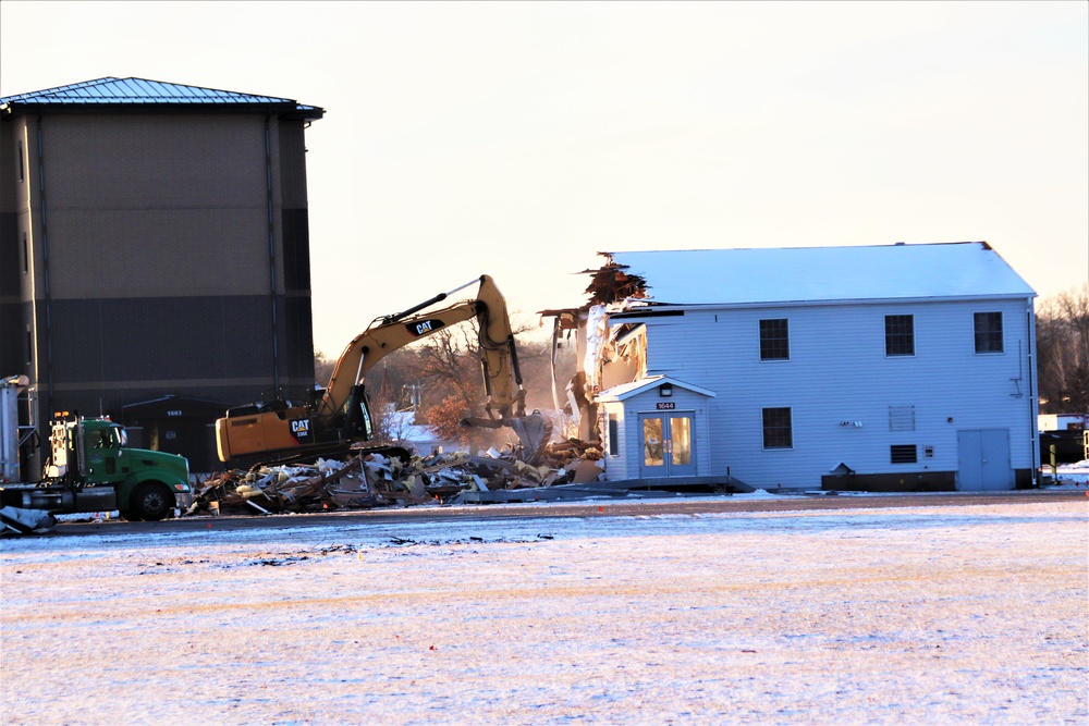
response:
<path id="1" fill-rule="evenodd" d="M 85 81 L 57 88 L 46 88 L 28 94 L 4 96 L 0 104 L 7 108 L 20 106 L 231 106 L 231 107 L 281 107 L 305 118 L 320 119 L 325 111 L 315 106 L 305 106 L 290 98 L 258 96 L 233 90 L 218 90 L 186 86 L 147 78 L 106 77 Z M 254 109 L 257 110 L 257 109 Z"/>

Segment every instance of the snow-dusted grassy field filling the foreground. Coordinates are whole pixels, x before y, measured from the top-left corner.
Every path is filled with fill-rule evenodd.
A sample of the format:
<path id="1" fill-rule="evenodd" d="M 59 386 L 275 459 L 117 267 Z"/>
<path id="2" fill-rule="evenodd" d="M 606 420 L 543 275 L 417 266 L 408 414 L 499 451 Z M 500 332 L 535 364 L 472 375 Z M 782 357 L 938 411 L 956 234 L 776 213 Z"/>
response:
<path id="1" fill-rule="evenodd" d="M 0 555 L 4 724 L 1089 719 L 1089 500 L 209 527 Z"/>

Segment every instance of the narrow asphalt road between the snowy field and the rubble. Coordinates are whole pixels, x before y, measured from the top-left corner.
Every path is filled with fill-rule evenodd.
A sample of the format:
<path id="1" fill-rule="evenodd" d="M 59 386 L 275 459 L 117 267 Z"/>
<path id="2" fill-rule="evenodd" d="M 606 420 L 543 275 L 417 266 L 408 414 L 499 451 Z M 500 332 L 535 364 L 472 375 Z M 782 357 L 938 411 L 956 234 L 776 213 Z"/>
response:
<path id="1" fill-rule="evenodd" d="M 321 514 L 255 515 L 220 517 L 183 517 L 157 522 L 123 521 L 111 519 L 101 524 L 60 522 L 42 537 L 79 537 L 86 534 L 122 534 L 136 532 L 192 532 L 207 529 L 284 529 L 297 527 L 327 527 L 337 522 L 359 526 L 365 524 L 389 525 L 396 521 L 487 521 L 501 518 L 548 517 L 633 517 L 654 515 L 701 515 L 730 512 L 799 512 L 817 509 L 896 508 L 977 506 L 994 504 L 1025 504 L 1028 502 L 1086 501 L 1086 492 L 1018 490 L 1012 492 L 947 492 L 928 494 L 840 494 L 813 496 L 783 496 L 782 499 L 730 499 L 722 496 L 678 496 L 646 499 L 632 502 L 567 502 L 505 505 L 416 506 L 346 510 Z"/>

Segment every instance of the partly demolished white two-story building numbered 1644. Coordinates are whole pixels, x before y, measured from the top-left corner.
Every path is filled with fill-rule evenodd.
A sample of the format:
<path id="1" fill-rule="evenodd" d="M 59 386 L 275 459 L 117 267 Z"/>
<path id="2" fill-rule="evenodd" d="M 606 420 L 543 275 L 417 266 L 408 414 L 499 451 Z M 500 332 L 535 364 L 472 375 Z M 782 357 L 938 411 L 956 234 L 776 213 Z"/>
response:
<path id="1" fill-rule="evenodd" d="M 626 292 L 583 310 L 582 384 L 609 480 L 1036 483 L 1036 294 L 986 243 L 604 256 Z"/>

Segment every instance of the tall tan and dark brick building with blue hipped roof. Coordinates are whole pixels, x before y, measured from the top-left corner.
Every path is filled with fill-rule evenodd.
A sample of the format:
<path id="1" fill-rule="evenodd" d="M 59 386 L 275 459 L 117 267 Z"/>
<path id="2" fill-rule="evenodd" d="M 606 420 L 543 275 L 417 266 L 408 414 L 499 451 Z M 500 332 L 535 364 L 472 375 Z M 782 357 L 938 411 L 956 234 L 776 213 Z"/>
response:
<path id="1" fill-rule="evenodd" d="M 42 440 L 53 410 L 108 414 L 203 471 L 227 406 L 313 386 L 323 113 L 142 78 L 0 98 L 0 376 L 29 378 Z"/>

